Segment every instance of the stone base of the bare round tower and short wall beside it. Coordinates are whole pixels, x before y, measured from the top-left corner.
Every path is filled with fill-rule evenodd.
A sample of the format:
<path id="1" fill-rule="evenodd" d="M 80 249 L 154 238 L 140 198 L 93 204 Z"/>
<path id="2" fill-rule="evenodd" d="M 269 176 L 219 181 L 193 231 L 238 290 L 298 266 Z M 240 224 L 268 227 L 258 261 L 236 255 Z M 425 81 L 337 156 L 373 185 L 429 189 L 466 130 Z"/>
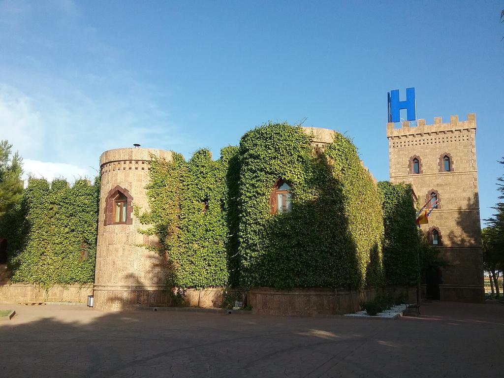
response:
<path id="1" fill-rule="evenodd" d="M 173 291 L 173 294 L 175 291 Z M 98 286 L 94 287 L 94 308 L 128 310 L 138 307 L 170 307 L 175 305 L 173 294 L 164 286 Z M 179 305 L 188 307 L 220 307 L 222 288 L 187 289 Z"/>

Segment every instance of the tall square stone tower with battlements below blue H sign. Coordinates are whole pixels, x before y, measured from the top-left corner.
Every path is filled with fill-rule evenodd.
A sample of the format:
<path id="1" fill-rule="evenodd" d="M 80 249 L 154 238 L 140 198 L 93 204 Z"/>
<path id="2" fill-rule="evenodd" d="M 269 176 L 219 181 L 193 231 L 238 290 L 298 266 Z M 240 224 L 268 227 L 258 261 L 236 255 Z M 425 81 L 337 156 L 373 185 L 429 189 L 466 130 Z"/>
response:
<path id="1" fill-rule="evenodd" d="M 436 277 L 427 274 L 427 291 L 441 300 L 484 302 L 475 137 L 474 113 L 466 121 L 452 115 L 450 123 L 387 124 L 390 180 L 411 183 L 420 206 L 437 199 L 421 227 L 448 263 Z"/>

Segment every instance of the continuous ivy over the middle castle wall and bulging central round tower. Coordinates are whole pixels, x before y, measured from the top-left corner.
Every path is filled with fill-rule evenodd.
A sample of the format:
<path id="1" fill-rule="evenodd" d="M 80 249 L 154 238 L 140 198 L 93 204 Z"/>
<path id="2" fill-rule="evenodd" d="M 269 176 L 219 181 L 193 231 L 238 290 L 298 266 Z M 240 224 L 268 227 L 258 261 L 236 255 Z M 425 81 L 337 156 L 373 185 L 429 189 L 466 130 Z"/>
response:
<path id="1" fill-rule="evenodd" d="M 300 127 L 268 123 L 213 161 L 154 158 L 144 230 L 168 254 L 178 287 L 352 287 L 383 282 L 382 197 L 341 134 L 316 151 Z M 281 178 L 291 213 L 271 214 Z M 163 207 L 163 211 L 158 209 Z M 139 213 L 139 211 L 137 211 Z M 152 248 L 152 247 L 151 247 Z"/>

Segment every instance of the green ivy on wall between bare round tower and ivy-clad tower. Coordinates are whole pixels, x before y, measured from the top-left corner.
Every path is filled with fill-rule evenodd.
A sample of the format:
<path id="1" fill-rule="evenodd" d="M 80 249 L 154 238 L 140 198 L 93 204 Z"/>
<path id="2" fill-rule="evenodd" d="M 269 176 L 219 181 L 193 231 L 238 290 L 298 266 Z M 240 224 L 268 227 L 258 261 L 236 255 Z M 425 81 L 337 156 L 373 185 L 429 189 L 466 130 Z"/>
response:
<path id="1" fill-rule="evenodd" d="M 152 157 L 147 195 L 153 210 L 140 214 L 136 209 L 136 214 L 151 225 L 141 232 L 156 234 L 158 252 L 167 254 L 169 285 L 227 286 L 237 275 L 231 249 L 236 232 L 229 231 L 237 227 L 236 168 L 230 167 L 237 164 L 237 148 L 226 147 L 221 155 L 214 161 L 209 150 L 201 149 L 188 162 L 177 154 L 172 161 Z"/>

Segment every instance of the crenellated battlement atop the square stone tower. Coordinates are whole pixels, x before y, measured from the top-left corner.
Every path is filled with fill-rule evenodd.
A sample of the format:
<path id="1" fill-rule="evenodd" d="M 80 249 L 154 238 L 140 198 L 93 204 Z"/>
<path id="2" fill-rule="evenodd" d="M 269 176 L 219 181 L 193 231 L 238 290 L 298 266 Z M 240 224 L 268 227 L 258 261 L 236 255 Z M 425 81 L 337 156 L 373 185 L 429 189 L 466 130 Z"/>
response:
<path id="1" fill-rule="evenodd" d="M 459 130 L 476 130 L 476 113 L 467 114 L 467 120 L 459 120 L 458 115 L 452 115 L 450 122 L 443 123 L 443 117 L 434 117 L 434 123 L 425 124 L 425 119 L 418 119 L 417 126 L 410 121 L 403 121 L 400 128 L 394 127 L 394 122 L 387 123 L 387 137 L 401 137 L 413 134 L 448 133 Z"/>

